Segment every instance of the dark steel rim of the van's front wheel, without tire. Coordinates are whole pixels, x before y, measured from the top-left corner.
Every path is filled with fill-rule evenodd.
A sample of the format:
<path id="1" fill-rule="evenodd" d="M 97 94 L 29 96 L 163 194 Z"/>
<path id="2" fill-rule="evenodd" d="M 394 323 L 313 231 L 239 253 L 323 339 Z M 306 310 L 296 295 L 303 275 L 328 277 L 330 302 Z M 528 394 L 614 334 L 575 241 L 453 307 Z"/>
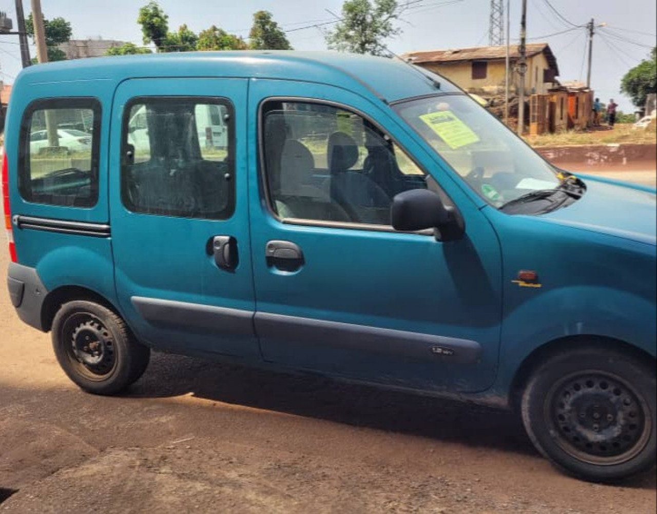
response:
<path id="1" fill-rule="evenodd" d="M 596 370 L 557 381 L 547 394 L 543 416 L 564 452 L 593 465 L 635 458 L 652 431 L 643 396 L 617 375 Z"/>

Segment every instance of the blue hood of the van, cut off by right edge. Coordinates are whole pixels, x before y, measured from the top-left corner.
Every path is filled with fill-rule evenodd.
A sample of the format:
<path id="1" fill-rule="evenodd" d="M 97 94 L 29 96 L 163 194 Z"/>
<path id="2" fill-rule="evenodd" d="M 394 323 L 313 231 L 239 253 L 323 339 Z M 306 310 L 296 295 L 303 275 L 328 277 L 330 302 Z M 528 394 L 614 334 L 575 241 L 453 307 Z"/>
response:
<path id="1" fill-rule="evenodd" d="M 546 221 L 656 244 L 655 190 L 578 175 L 587 192 L 568 207 L 541 215 Z"/>

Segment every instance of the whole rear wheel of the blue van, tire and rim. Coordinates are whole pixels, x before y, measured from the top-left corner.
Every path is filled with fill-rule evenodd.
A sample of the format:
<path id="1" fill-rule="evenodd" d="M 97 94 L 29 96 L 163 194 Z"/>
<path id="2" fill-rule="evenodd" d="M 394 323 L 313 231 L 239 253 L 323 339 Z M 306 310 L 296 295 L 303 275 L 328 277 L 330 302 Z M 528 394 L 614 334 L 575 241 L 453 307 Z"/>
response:
<path id="1" fill-rule="evenodd" d="M 116 395 L 143 375 L 150 349 L 124 320 L 91 301 L 64 303 L 53 320 L 53 348 L 62 370 L 81 389 Z"/>

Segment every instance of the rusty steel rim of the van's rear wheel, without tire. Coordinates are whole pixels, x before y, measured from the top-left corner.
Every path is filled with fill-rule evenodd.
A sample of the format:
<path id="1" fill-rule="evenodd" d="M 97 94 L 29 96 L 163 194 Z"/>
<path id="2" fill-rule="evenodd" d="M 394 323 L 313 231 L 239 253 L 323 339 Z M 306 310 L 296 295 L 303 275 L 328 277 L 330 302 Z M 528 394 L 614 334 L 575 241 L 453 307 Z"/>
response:
<path id="1" fill-rule="evenodd" d="M 72 314 L 61 330 L 66 356 L 76 372 L 92 381 L 102 381 L 116 369 L 114 336 L 90 312 Z"/>

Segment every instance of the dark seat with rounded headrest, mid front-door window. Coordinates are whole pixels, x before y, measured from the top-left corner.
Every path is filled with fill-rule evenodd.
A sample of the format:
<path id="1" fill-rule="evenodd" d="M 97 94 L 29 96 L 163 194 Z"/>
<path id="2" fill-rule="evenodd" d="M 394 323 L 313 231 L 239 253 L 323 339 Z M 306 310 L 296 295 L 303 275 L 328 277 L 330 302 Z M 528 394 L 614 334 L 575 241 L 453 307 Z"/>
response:
<path id="1" fill-rule="evenodd" d="M 334 132 L 328 138 L 328 170 L 330 196 L 334 202 L 361 223 L 388 225 L 390 197 L 363 171 L 352 171 L 358 161 L 358 145 L 344 132 Z"/>

